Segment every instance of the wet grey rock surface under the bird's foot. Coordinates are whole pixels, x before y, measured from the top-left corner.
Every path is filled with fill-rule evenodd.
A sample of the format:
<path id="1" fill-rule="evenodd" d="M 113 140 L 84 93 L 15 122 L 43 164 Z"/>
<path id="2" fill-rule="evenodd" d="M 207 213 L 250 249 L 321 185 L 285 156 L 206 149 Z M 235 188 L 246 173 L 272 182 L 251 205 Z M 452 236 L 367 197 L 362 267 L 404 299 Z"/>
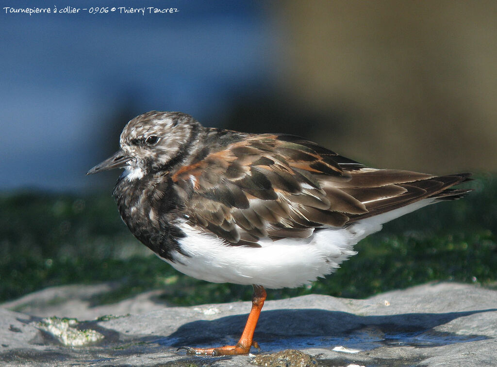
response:
<path id="1" fill-rule="evenodd" d="M 255 331 L 261 351 L 196 357 L 180 346 L 236 343 L 250 302 L 166 307 L 157 292 L 91 306 L 107 285 L 51 288 L 0 308 L 7 366 L 495 366 L 497 291 L 427 284 L 368 299 L 306 295 L 267 301 Z M 268 291 L 270 293 L 270 290 Z M 112 314 L 113 316 L 105 316 Z M 98 342 L 70 346 L 47 319 Z M 121 317 L 115 317 L 121 316 Z M 78 318 L 79 322 L 62 317 Z M 85 320 L 85 321 L 83 321 Z M 52 329 L 50 329 L 52 330 Z"/>

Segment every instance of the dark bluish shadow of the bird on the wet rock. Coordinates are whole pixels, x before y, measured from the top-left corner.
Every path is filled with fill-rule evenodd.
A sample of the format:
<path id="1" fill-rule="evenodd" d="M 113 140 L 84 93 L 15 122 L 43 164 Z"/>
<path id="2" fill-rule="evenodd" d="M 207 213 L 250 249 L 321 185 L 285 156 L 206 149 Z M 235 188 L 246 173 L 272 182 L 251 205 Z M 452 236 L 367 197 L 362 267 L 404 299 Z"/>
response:
<path id="1" fill-rule="evenodd" d="M 454 319 L 497 309 L 448 313 L 406 313 L 385 316 L 358 316 L 319 309 L 271 310 L 262 312 L 255 340 L 264 352 L 282 349 L 329 348 L 372 350 L 382 346 L 444 346 L 489 339 L 485 335 L 460 335 L 457 330 L 434 328 Z M 247 315 L 199 320 L 182 325 L 162 346 L 212 347 L 236 344 Z"/>

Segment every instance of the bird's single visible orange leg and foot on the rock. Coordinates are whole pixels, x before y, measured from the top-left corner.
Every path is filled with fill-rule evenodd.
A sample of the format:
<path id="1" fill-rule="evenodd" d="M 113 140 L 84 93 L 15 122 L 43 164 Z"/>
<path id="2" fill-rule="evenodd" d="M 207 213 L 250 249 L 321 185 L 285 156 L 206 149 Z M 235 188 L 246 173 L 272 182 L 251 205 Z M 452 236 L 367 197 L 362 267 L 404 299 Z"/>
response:
<path id="1" fill-rule="evenodd" d="M 259 349 L 257 342 L 253 340 L 253 332 L 255 330 L 255 325 L 257 325 L 257 320 L 259 319 L 260 310 L 264 305 L 266 300 L 266 291 L 264 287 L 253 285 L 253 295 L 252 295 L 252 309 L 248 314 L 247 324 L 245 324 L 244 332 L 240 337 L 237 345 L 225 345 L 219 348 L 191 348 L 182 347 L 179 349 L 185 349 L 186 353 L 189 354 L 203 354 L 210 356 L 227 356 L 235 354 L 248 354 L 250 352 L 250 347 L 255 347 Z"/>

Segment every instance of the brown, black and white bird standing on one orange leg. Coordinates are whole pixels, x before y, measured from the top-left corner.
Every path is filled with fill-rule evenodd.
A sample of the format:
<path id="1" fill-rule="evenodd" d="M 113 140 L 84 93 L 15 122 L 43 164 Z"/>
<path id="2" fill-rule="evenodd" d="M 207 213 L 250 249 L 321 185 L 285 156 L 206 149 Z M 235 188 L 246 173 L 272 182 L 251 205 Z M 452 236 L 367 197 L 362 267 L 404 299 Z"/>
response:
<path id="1" fill-rule="evenodd" d="M 182 347 L 248 354 L 265 289 L 333 273 L 382 224 L 470 189 L 443 176 L 368 167 L 305 138 L 203 127 L 181 112 L 150 111 L 124 127 L 119 150 L 91 168 L 123 168 L 113 189 L 135 237 L 176 270 L 207 282 L 252 285 L 236 345 Z"/>

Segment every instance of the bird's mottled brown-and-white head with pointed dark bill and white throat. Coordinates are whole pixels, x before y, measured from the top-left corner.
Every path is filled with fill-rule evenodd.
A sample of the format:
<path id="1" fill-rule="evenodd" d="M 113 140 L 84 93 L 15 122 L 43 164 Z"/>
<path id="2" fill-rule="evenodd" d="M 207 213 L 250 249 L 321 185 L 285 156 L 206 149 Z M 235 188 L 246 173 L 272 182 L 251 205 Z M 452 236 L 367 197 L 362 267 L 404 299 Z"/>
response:
<path id="1" fill-rule="evenodd" d="M 126 167 L 128 179 L 164 169 L 198 136 L 200 124 L 181 112 L 151 111 L 135 117 L 124 127 L 120 149 L 91 168 L 94 174 Z"/>

